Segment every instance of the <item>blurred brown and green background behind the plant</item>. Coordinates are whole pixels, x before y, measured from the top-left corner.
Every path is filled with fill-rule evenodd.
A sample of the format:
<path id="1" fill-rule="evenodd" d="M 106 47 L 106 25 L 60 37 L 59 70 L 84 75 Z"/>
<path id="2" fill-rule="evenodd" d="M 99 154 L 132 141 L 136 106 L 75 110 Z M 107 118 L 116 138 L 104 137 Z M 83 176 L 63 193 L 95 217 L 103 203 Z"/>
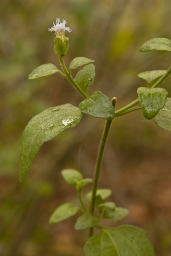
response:
<path id="1" fill-rule="evenodd" d="M 116 109 L 137 98 L 146 83 L 137 74 L 165 70 L 168 52 L 140 53 L 154 37 L 171 39 L 170 0 L 2 0 L 0 2 L 0 254 L 2 256 L 81 256 L 88 231 L 75 231 L 78 215 L 50 225 L 56 207 L 78 204 L 74 187 L 60 171 L 73 168 L 92 178 L 105 121 L 83 115 L 78 126 L 44 143 L 22 183 L 19 146 L 23 129 L 48 107 L 83 98 L 59 74 L 28 81 L 39 65 L 53 63 L 56 18 L 66 19 L 72 33 L 64 61 L 95 59 L 96 77 L 89 93 L 117 97 Z M 78 71 L 78 70 L 76 70 Z M 72 72 L 75 76 L 76 71 Z M 171 93 L 171 78 L 164 87 Z M 171 255 L 171 133 L 146 120 L 141 111 L 113 121 L 105 148 L 99 188 L 112 190 L 109 201 L 130 213 L 110 227 L 136 225 L 148 233 L 156 256 Z M 86 194 L 91 190 L 87 186 Z M 98 231 L 96 231 L 98 232 Z"/>

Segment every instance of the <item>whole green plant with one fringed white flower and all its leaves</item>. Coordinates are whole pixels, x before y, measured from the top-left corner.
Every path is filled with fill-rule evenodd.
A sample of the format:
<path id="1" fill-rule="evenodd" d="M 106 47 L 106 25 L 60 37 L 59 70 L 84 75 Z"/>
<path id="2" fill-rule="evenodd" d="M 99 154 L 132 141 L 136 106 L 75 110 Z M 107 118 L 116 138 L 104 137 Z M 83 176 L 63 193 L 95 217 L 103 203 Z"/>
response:
<path id="1" fill-rule="evenodd" d="M 101 219 L 117 222 L 127 216 L 128 210 L 123 207 L 116 207 L 114 202 L 106 202 L 105 199 L 111 195 L 112 191 L 97 189 L 97 185 L 105 143 L 114 118 L 128 114 L 131 111 L 141 110 L 144 118 L 153 119 L 159 127 L 171 131 L 171 98 L 168 98 L 168 92 L 164 88 L 158 88 L 171 73 L 171 67 L 168 70 L 140 73 L 138 76 L 146 81 L 146 86 L 139 87 L 137 90 L 138 98 L 135 101 L 116 111 L 116 97 L 109 101 L 108 97 L 100 91 L 94 91 L 91 95 L 88 94 L 88 87 L 92 85 L 95 78 L 95 66 L 93 65 L 95 61 L 85 57 L 76 57 L 71 61 L 69 69 L 65 66 L 63 57 L 68 51 L 68 38 L 65 36 L 65 31 L 71 32 L 70 27 L 66 27 L 66 20 L 60 22 L 60 19 L 57 18 L 56 24 L 54 23 L 54 26 L 48 30 L 55 31 L 54 51 L 59 56 L 63 71 L 48 63 L 37 67 L 28 79 L 59 73 L 71 82 L 84 100 L 80 102 L 79 107 L 69 103 L 50 107 L 50 109 L 44 110 L 28 122 L 21 139 L 20 180 L 22 181 L 25 177 L 32 160 L 43 143 L 54 138 L 65 129 L 78 125 L 82 119 L 82 113 L 105 119 L 94 179 L 83 178 L 78 170 L 62 170 L 64 180 L 78 191 L 80 206 L 65 203 L 57 207 L 50 217 L 50 223 L 61 222 L 80 211 L 82 215 L 77 219 L 75 229 L 89 229 L 89 238 L 84 246 L 86 256 L 153 256 L 153 247 L 143 230 L 131 225 L 111 229 L 100 224 Z M 154 38 L 140 47 L 142 52 L 151 50 L 171 51 L 171 41 L 167 38 Z M 83 69 L 73 78 L 72 70 L 82 66 L 84 66 Z M 154 82 L 156 80 L 157 82 Z M 139 106 L 135 106 L 138 103 Z M 93 183 L 92 191 L 89 191 L 86 195 L 87 205 L 85 205 L 82 200 L 82 189 L 91 182 Z M 99 234 L 93 235 L 94 227 L 100 229 Z"/>

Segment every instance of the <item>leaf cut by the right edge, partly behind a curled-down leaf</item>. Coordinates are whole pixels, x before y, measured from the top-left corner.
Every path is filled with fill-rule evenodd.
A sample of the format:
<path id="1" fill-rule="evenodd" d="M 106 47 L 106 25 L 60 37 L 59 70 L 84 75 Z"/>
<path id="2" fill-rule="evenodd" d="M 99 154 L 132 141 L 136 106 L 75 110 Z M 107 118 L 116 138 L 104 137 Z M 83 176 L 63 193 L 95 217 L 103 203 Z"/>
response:
<path id="1" fill-rule="evenodd" d="M 162 129 L 171 131 L 171 98 L 166 99 L 165 106 L 153 118 L 153 121 Z"/>

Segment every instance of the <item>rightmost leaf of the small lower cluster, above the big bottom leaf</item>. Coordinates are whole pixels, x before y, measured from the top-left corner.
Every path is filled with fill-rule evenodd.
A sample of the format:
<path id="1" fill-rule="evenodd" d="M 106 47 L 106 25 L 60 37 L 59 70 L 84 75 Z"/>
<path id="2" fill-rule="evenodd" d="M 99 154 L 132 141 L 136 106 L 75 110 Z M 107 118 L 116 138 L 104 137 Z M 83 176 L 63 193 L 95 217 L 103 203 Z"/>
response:
<path id="1" fill-rule="evenodd" d="M 120 219 L 125 218 L 129 211 L 122 207 L 116 207 L 115 211 L 106 209 L 103 213 L 103 218 L 109 221 L 120 221 Z"/>

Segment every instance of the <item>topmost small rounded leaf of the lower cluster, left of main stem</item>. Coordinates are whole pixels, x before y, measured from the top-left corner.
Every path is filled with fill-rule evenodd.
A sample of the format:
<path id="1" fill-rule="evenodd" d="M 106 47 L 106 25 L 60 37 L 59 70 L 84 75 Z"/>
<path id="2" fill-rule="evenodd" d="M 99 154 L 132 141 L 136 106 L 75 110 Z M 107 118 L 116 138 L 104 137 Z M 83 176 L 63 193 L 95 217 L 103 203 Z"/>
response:
<path id="1" fill-rule="evenodd" d="M 83 179 L 83 175 L 73 169 L 64 169 L 61 174 L 64 180 L 71 186 L 76 186 L 77 183 Z"/>

